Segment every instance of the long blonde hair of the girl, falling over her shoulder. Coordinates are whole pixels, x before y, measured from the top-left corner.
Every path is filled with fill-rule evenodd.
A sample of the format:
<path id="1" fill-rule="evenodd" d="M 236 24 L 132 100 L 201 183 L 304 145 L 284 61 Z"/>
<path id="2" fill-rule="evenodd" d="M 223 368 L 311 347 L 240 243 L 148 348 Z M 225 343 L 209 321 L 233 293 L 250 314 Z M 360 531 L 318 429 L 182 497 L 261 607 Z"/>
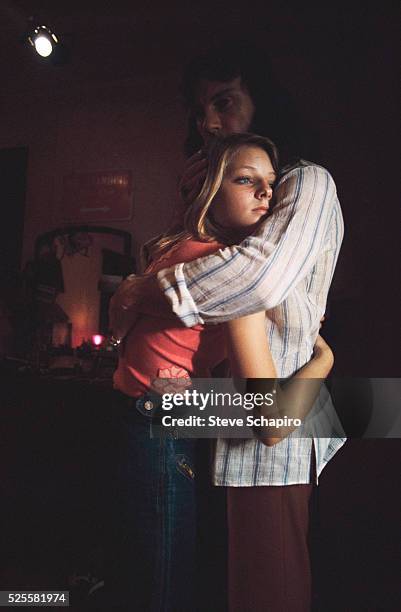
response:
<path id="1" fill-rule="evenodd" d="M 145 264 L 158 259 L 175 244 L 187 238 L 195 238 L 202 242 L 217 240 L 225 244 L 235 242 L 232 234 L 213 223 L 208 212 L 230 162 L 243 147 L 258 147 L 266 151 L 274 171 L 278 174 L 278 152 L 269 138 L 243 133 L 213 139 L 205 151 L 209 165 L 200 193 L 189 204 L 180 223 L 169 228 L 161 237 L 158 236 L 144 245 Z"/>

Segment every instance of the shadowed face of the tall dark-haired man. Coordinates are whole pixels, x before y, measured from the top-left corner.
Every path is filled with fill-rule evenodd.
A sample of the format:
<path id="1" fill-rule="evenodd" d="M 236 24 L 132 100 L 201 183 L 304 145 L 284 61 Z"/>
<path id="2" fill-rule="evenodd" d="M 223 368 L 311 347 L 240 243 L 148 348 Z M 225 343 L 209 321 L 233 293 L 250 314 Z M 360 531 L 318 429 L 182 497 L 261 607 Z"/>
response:
<path id="1" fill-rule="evenodd" d="M 226 82 L 201 79 L 194 110 L 198 132 L 207 143 L 216 134 L 249 131 L 255 106 L 241 77 Z"/>

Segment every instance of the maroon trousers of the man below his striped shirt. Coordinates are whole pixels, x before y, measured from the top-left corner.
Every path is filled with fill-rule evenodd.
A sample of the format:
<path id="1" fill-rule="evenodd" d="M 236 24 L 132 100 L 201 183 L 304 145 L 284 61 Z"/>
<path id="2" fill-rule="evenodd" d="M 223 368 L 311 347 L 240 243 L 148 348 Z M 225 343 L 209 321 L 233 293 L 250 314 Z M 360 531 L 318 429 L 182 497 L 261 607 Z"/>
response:
<path id="1" fill-rule="evenodd" d="M 312 484 L 228 487 L 229 612 L 309 612 Z"/>

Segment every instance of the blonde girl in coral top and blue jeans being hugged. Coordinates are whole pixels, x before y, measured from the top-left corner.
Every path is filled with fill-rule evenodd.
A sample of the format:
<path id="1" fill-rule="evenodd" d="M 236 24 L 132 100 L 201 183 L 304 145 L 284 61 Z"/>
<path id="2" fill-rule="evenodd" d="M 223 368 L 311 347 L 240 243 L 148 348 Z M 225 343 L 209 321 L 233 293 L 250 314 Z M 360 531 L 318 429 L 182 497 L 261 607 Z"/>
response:
<path id="1" fill-rule="evenodd" d="M 203 187 L 181 227 L 148 244 L 148 271 L 197 259 L 251 234 L 269 214 L 277 174 L 277 153 L 270 140 L 252 134 L 216 140 L 209 148 Z M 121 303 L 121 291 L 118 299 Z M 129 327 L 129 294 L 126 307 Z M 264 312 L 226 326 L 191 328 L 178 319 L 141 315 L 125 338 L 114 377 L 119 390 L 116 417 L 125 443 L 116 487 L 119 584 L 114 576 L 113 586 L 136 609 L 194 607 L 196 441 L 150 437 L 158 408 L 149 391 L 157 387 L 158 378 L 209 377 L 225 358 L 226 347 L 237 375 L 274 378 L 264 325 Z M 322 339 L 315 348 L 313 359 L 295 379 L 327 376 L 332 353 Z M 305 401 L 310 408 L 311 398 Z M 269 432 L 259 435 L 268 445 L 281 440 Z M 140 574 L 133 569 L 138 560 Z"/>

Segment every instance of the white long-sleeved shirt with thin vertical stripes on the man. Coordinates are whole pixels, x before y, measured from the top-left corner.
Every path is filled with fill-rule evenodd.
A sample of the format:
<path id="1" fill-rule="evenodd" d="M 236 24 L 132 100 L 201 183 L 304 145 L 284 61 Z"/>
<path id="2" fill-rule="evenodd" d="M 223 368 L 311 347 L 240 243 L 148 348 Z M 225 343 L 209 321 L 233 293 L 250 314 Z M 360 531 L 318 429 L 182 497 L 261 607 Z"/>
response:
<path id="1" fill-rule="evenodd" d="M 187 326 L 222 323 L 266 310 L 266 333 L 278 375 L 291 376 L 313 352 L 344 225 L 336 187 L 324 168 L 301 161 L 275 190 L 272 214 L 240 245 L 158 273 L 176 315 Z M 321 400 L 325 401 L 325 400 Z M 344 437 L 300 438 L 274 446 L 218 440 L 214 482 L 222 486 L 310 482 Z"/>

